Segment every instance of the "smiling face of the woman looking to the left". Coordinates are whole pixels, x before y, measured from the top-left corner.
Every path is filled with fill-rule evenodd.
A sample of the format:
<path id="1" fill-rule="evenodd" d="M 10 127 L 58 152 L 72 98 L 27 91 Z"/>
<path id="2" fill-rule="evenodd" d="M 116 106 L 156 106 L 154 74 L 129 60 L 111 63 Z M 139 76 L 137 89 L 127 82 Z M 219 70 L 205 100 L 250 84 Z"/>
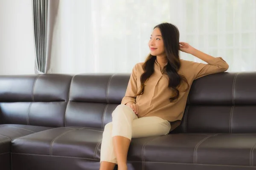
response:
<path id="1" fill-rule="evenodd" d="M 148 42 L 148 47 L 152 56 L 166 56 L 163 45 L 163 38 L 159 28 L 154 28 Z"/>

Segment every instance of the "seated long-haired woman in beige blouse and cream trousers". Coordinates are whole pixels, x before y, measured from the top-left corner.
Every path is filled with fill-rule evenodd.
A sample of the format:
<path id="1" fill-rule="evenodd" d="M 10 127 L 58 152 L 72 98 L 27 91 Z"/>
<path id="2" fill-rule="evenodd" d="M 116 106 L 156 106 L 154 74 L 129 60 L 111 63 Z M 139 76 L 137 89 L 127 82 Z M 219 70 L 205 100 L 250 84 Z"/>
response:
<path id="1" fill-rule="evenodd" d="M 121 105 L 105 126 L 100 170 L 127 170 L 131 138 L 167 135 L 180 125 L 193 80 L 227 71 L 221 57 L 212 57 L 179 42 L 179 31 L 170 23 L 154 27 L 148 42 L 150 54 L 134 66 Z M 180 59 L 179 50 L 208 64 Z"/>

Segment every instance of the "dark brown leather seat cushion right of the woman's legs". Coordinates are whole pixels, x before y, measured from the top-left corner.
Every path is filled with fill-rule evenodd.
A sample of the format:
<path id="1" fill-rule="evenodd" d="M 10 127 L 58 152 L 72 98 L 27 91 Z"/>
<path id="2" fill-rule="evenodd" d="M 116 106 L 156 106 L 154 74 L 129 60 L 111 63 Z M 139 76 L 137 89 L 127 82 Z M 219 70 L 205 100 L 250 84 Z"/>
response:
<path id="1" fill-rule="evenodd" d="M 256 166 L 255 147 L 256 133 L 177 133 L 155 137 L 140 152 L 143 162 Z"/>

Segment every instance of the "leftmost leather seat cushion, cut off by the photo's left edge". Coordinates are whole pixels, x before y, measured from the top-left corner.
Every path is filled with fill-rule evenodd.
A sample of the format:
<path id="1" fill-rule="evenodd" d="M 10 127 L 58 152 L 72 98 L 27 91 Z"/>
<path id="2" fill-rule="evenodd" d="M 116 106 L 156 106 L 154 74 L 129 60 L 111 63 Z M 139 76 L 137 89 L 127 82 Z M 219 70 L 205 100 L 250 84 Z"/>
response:
<path id="1" fill-rule="evenodd" d="M 30 135 L 52 127 L 41 127 L 31 125 L 0 125 L 0 154 L 11 151 L 11 141 L 22 136 Z"/>

